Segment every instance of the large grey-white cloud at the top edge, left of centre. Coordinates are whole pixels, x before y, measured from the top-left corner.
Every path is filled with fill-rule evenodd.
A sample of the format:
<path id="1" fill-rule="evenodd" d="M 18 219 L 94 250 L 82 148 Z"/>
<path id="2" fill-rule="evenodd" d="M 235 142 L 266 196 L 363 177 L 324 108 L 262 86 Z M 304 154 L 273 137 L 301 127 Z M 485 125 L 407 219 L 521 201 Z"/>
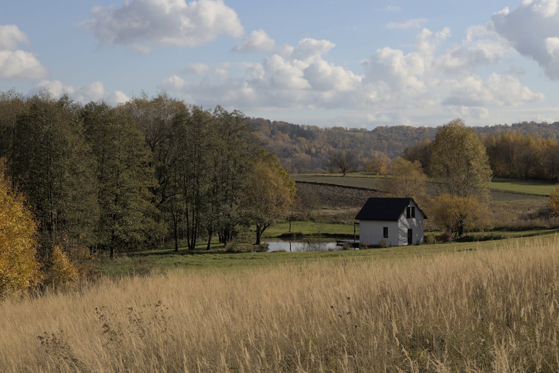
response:
<path id="1" fill-rule="evenodd" d="M 149 53 L 154 45 L 194 46 L 219 35 L 242 36 L 237 13 L 222 0 L 131 0 L 95 7 L 81 23 L 103 44 L 120 44 Z"/>

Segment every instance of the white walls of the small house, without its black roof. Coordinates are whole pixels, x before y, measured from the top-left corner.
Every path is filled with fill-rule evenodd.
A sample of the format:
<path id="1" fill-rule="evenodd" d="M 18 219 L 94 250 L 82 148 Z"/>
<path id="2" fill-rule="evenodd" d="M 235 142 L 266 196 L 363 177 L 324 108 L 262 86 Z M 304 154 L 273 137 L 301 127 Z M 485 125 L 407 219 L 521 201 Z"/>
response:
<path id="1" fill-rule="evenodd" d="M 383 228 L 388 227 L 388 238 L 385 238 L 389 246 L 401 246 L 408 244 L 408 229 L 413 231 L 413 243 L 423 243 L 423 214 L 418 206 L 410 201 L 409 206 L 415 207 L 415 218 L 406 218 L 406 209 L 402 211 L 400 219 L 395 220 L 359 220 L 359 244 L 378 245 L 383 234 Z"/>

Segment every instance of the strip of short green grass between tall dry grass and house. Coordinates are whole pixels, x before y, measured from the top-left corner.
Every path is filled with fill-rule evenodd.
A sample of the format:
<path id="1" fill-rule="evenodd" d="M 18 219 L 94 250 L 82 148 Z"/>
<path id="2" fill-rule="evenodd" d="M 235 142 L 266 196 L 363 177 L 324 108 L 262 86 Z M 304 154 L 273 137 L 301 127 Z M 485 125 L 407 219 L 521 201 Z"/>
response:
<path id="1" fill-rule="evenodd" d="M 353 232 L 353 228 L 352 228 Z M 410 245 L 389 248 L 372 248 L 362 250 L 340 250 L 322 252 L 251 252 L 230 253 L 222 249 L 222 245 L 215 244 L 209 251 L 197 249 L 188 251 L 179 249 L 178 253 L 172 250 L 148 251 L 123 254 L 112 261 L 108 257 L 101 257 L 96 262 L 95 268 L 105 276 L 120 277 L 127 275 L 149 275 L 172 270 L 173 268 L 186 268 L 190 270 L 228 270 L 241 267 L 280 266 L 290 263 L 305 263 L 309 261 L 324 260 L 371 260 L 371 259 L 399 259 L 404 257 L 424 257 L 438 253 L 453 253 L 476 251 L 479 249 L 494 249 L 510 244 L 520 246 L 529 245 L 534 240 L 553 240 L 559 234 L 557 229 L 534 230 L 524 232 L 507 232 L 512 236 L 524 237 L 490 240 L 482 242 L 449 242 L 439 244 Z M 541 234 L 541 235 L 538 235 Z M 537 235 L 537 237 L 528 237 Z"/>

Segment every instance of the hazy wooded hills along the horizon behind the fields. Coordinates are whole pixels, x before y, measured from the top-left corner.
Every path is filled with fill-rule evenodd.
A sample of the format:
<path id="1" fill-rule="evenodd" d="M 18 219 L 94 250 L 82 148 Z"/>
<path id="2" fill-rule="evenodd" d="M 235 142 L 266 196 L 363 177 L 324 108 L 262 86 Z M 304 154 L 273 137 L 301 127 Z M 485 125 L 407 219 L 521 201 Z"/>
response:
<path id="1" fill-rule="evenodd" d="M 395 158 L 405 148 L 433 140 L 437 128 L 413 126 L 379 126 L 372 130 L 344 127 L 319 128 L 317 126 L 270 121 L 263 118 L 247 119 L 266 147 L 276 153 L 290 173 L 328 172 L 329 157 L 334 150 L 352 150 L 359 162 L 372 153 Z M 505 131 L 530 134 L 534 138 L 559 139 L 559 122 L 522 122 L 513 125 L 473 127 L 482 135 Z"/>

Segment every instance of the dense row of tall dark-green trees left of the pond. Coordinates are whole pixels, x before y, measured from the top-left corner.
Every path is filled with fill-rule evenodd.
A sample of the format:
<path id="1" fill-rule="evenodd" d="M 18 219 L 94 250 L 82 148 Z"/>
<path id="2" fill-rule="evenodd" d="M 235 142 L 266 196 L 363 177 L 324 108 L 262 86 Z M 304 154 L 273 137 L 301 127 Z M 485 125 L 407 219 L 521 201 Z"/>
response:
<path id="1" fill-rule="evenodd" d="M 261 234 L 295 192 L 240 111 L 165 93 L 113 107 L 4 92 L 0 159 L 37 220 L 41 257 L 54 247 L 111 257 L 164 242 L 209 248 L 241 225 Z"/>

